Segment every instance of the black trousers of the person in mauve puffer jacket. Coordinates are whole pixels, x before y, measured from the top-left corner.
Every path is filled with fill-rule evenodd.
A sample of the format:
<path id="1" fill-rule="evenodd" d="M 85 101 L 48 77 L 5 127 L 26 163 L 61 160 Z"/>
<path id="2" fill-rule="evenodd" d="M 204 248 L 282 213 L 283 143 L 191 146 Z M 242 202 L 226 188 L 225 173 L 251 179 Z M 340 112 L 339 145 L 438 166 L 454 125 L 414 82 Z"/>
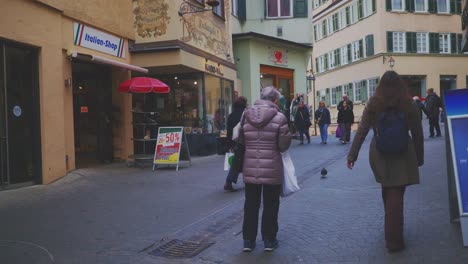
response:
<path id="1" fill-rule="evenodd" d="M 262 239 L 276 239 L 278 233 L 278 210 L 281 185 L 245 184 L 244 240 L 256 240 L 258 230 L 258 211 L 263 189 Z"/>

